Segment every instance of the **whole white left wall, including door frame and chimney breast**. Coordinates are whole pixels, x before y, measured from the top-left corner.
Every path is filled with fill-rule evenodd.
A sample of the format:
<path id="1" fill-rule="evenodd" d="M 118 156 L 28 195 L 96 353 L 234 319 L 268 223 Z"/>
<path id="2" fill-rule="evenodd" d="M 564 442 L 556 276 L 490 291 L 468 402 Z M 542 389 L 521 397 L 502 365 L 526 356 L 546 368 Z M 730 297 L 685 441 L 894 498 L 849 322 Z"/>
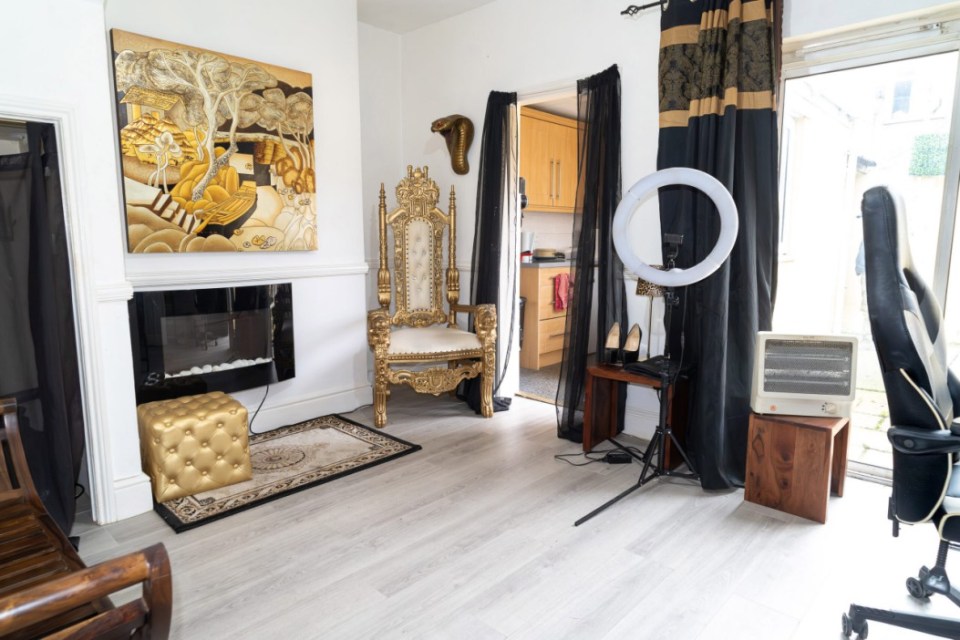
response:
<path id="1" fill-rule="evenodd" d="M 364 314 L 355 0 L 32 0 L 5 9 L 0 116 L 59 124 L 81 338 L 94 517 L 148 511 L 140 470 L 127 300 L 134 288 L 292 281 L 297 376 L 257 418 L 271 428 L 370 402 Z M 185 16 L 189 16 L 186 19 Z M 276 28 L 272 28 L 276 24 Z M 276 255 L 128 255 L 120 198 L 108 27 L 313 74 L 319 250 Z M 14 63 L 15 61 L 15 63 Z M 163 259 L 166 258 L 166 259 Z M 236 394 L 251 411 L 262 389 Z"/>

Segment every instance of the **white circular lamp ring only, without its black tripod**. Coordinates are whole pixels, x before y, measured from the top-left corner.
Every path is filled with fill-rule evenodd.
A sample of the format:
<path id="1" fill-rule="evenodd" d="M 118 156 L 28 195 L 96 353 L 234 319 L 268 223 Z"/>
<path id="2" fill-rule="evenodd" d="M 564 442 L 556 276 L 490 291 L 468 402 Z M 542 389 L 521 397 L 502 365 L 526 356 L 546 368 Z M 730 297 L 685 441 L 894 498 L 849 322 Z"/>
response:
<path id="1" fill-rule="evenodd" d="M 627 229 L 633 214 L 637 212 L 637 208 L 648 192 L 675 184 L 699 189 L 713 201 L 720 214 L 720 237 L 717 238 L 717 243 L 707 257 L 689 269 L 673 268 L 669 271 L 660 271 L 645 263 L 634 253 L 630 246 Z M 613 244 L 623 264 L 643 280 L 662 287 L 684 287 L 703 280 L 720 268 L 733 250 L 739 227 L 737 205 L 733 202 L 733 196 L 719 180 L 697 169 L 674 167 L 651 173 L 630 187 L 613 216 Z"/>

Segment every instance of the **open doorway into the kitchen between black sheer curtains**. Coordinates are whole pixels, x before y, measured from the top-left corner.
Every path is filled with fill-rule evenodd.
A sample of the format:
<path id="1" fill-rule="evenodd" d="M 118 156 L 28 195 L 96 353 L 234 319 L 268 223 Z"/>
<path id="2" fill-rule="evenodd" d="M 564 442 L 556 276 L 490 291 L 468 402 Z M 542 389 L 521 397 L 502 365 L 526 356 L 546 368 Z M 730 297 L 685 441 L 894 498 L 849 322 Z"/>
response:
<path id="1" fill-rule="evenodd" d="M 577 96 L 520 107 L 519 395 L 554 404 L 569 304 L 576 210 Z"/>

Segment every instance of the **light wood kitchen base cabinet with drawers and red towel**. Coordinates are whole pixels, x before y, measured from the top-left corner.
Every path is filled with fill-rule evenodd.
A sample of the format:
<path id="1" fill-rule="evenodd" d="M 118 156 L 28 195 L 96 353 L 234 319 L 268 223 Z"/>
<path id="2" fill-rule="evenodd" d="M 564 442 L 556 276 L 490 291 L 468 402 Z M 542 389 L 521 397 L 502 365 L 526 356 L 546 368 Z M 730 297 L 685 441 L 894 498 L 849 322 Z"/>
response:
<path id="1" fill-rule="evenodd" d="M 554 281 L 569 266 L 520 269 L 520 295 L 527 299 L 523 312 L 523 347 L 520 366 L 538 370 L 563 359 L 567 311 L 554 307 Z"/>

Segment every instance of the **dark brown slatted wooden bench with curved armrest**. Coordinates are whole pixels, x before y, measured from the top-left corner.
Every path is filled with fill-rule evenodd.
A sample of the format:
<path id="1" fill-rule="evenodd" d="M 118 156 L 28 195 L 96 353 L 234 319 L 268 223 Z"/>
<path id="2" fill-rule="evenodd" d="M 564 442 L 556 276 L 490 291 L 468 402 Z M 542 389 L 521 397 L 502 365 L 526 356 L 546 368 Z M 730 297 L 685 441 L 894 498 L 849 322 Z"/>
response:
<path id="1" fill-rule="evenodd" d="M 167 638 L 172 587 L 162 544 L 87 568 L 33 485 L 12 400 L 0 400 L 0 638 Z M 109 595 L 142 585 L 114 606 Z"/>

